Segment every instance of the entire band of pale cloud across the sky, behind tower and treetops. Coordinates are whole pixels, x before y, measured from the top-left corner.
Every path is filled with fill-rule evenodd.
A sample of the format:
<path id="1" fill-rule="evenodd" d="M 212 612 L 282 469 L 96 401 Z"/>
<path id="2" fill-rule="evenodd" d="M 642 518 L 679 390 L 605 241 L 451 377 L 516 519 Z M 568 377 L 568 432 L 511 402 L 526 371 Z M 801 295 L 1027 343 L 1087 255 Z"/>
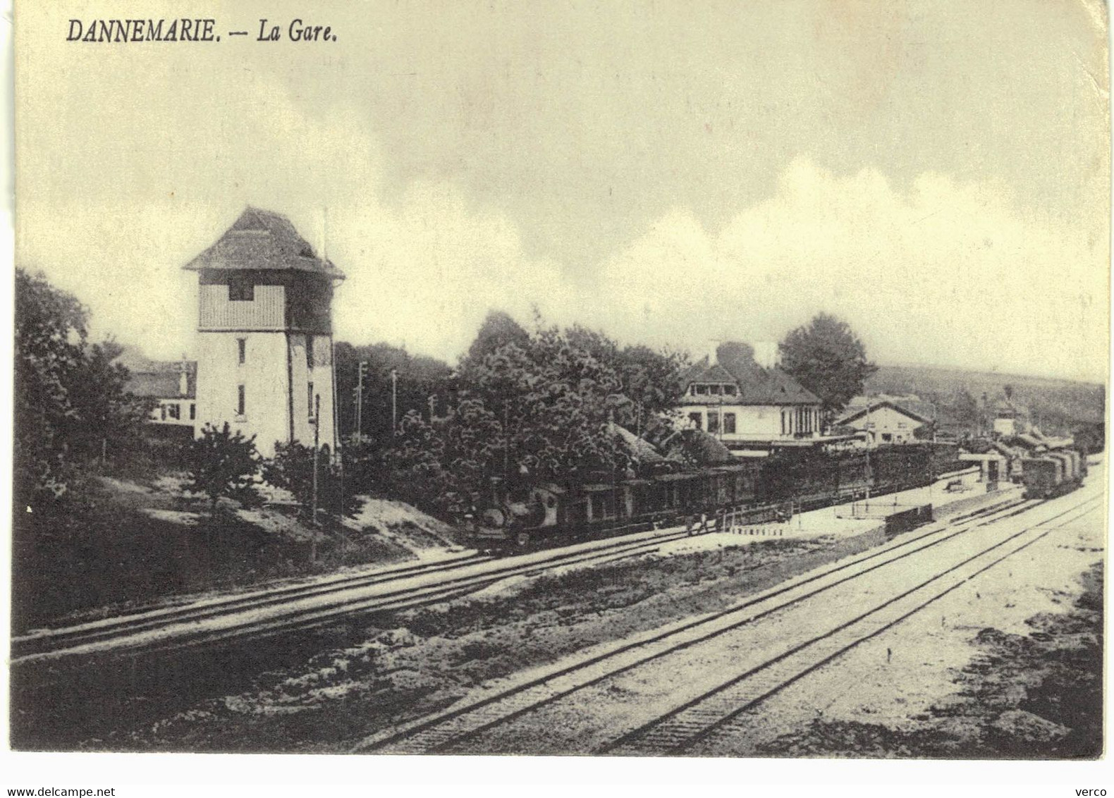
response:
<path id="1" fill-rule="evenodd" d="M 233 104 L 246 108 L 234 135 L 221 111 Z M 1026 217 L 986 186 L 924 174 L 901 193 L 878 172 L 799 158 L 719 232 L 675 208 L 577 281 L 451 183 L 379 201 L 380 150 L 361 121 L 311 117 L 263 79 L 215 86 L 164 123 L 168 149 L 100 152 L 77 183 L 21 164 L 48 189 L 22 194 L 18 220 L 21 263 L 87 302 L 98 334 L 156 357 L 192 350 L 195 278 L 180 266 L 253 203 L 287 213 L 319 249 L 329 208 L 329 256 L 349 275 L 336 335 L 354 342 L 451 361 L 490 308 L 528 321 L 536 304 L 553 321 L 704 351 L 712 338 L 776 340 L 828 310 L 882 361 L 1104 377 L 1105 237 Z M 143 192 L 114 191 L 120 176 Z"/>

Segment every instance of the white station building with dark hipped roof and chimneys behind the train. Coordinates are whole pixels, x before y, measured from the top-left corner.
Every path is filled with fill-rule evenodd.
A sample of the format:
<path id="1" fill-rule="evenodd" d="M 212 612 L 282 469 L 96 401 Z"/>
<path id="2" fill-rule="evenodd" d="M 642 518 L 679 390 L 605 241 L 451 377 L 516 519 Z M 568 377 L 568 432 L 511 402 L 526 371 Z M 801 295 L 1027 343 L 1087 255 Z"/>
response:
<path id="1" fill-rule="evenodd" d="M 681 374 L 677 411 L 687 427 L 715 436 L 735 454 L 820 441 L 820 399 L 772 362 L 771 348 L 725 343 Z"/>

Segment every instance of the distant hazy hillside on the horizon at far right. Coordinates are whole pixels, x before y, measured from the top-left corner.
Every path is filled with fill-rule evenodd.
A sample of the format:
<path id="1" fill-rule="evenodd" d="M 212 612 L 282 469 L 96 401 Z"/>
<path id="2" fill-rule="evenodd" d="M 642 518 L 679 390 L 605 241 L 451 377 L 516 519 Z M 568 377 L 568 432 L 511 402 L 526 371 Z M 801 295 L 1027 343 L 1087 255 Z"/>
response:
<path id="1" fill-rule="evenodd" d="M 1071 431 L 1077 425 L 1101 425 L 1106 418 L 1106 389 L 1092 382 L 1020 374 L 965 371 L 929 366 L 881 366 L 867 381 L 870 393 L 916 393 L 936 403 L 945 416 L 961 407 L 964 391 L 990 401 L 1013 389 L 1013 401 L 1027 408 L 1046 431 Z"/>

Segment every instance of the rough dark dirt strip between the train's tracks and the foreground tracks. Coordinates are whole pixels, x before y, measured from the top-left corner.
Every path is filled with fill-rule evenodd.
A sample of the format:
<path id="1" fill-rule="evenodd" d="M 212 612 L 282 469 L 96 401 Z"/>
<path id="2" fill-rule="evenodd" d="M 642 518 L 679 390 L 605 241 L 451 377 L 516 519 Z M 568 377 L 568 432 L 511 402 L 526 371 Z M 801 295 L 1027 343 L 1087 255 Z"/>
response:
<path id="1" fill-rule="evenodd" d="M 449 705 L 477 685 L 589 646 L 713 612 L 878 543 L 741 539 L 672 556 L 516 580 L 363 627 L 303 666 L 91 747 L 348 751 L 380 729 Z"/>

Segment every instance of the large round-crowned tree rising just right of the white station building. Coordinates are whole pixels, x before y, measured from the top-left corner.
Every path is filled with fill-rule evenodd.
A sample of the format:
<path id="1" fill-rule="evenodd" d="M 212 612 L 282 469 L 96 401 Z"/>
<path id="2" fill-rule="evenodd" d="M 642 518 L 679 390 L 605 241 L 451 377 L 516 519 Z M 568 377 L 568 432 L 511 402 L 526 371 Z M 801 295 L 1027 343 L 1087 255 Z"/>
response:
<path id="1" fill-rule="evenodd" d="M 790 332 L 778 349 L 782 369 L 820 398 L 829 419 L 862 393 L 867 379 L 878 371 L 851 327 L 828 313 Z"/>

